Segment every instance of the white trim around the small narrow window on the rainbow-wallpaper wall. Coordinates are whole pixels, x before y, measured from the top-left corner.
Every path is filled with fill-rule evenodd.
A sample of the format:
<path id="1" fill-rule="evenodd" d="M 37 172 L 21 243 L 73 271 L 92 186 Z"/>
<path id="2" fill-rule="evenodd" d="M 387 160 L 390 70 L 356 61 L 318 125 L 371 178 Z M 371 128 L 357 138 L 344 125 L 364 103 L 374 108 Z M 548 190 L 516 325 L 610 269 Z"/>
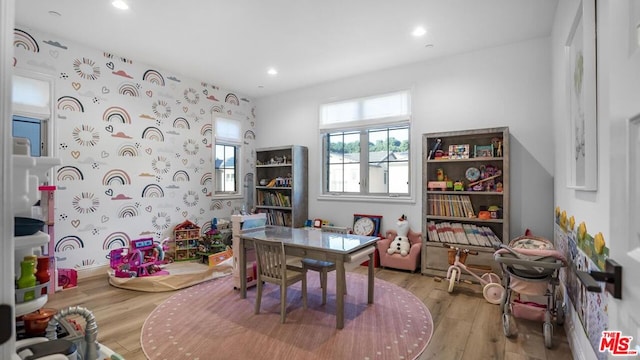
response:
<path id="1" fill-rule="evenodd" d="M 225 120 L 231 120 L 233 122 L 237 122 L 239 127 L 240 127 L 240 134 L 238 138 L 232 138 L 232 137 L 225 137 L 225 136 L 217 136 L 216 134 L 216 120 L 217 119 L 225 119 Z M 243 166 L 242 166 L 242 161 L 240 161 L 240 159 L 242 159 L 242 154 L 244 152 L 243 149 L 243 141 L 242 141 L 242 121 L 233 118 L 232 116 L 218 116 L 217 113 L 213 113 L 213 119 L 212 119 L 212 127 L 213 127 L 213 132 L 211 134 L 211 139 L 212 139 L 212 144 L 211 144 L 211 167 L 212 167 L 212 179 L 213 179 L 213 189 L 211 190 L 211 197 L 213 199 L 216 200 L 238 200 L 238 199 L 244 199 L 244 191 L 243 191 L 243 178 L 244 178 L 244 172 L 243 172 Z M 226 145 L 226 146 L 235 146 L 236 147 L 236 160 L 235 160 L 235 166 L 236 166 L 236 189 L 237 191 L 233 194 L 229 194 L 229 193 L 224 193 L 224 194 L 217 194 L 216 193 L 216 184 L 215 181 L 217 181 L 216 179 L 216 175 L 215 175 L 215 171 L 216 171 L 216 144 L 219 145 Z"/>

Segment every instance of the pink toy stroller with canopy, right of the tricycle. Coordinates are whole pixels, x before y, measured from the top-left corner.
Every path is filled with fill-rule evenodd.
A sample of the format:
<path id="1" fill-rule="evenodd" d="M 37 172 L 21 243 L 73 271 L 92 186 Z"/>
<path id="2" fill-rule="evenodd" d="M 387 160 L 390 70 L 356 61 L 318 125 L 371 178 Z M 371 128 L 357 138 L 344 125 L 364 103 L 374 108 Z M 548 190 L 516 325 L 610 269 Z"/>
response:
<path id="1" fill-rule="evenodd" d="M 551 348 L 551 320 L 555 318 L 558 326 L 564 323 L 564 308 L 556 303 L 556 286 L 566 259 L 551 241 L 532 235 L 518 237 L 509 246 L 500 245 L 494 258 L 502 267 L 507 289 L 501 303 L 504 335 L 514 335 L 511 330 L 514 317 L 543 321 L 544 345 Z M 542 297 L 546 297 L 546 304 L 538 300 Z"/>

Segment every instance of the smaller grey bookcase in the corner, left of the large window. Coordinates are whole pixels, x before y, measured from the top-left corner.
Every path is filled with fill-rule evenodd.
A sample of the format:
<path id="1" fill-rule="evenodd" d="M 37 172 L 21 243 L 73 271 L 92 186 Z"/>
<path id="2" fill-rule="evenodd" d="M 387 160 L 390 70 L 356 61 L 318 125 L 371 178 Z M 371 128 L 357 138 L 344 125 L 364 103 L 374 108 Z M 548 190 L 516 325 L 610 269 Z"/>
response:
<path id="1" fill-rule="evenodd" d="M 267 224 L 303 227 L 308 211 L 308 150 L 290 145 L 256 150 L 257 213 Z"/>

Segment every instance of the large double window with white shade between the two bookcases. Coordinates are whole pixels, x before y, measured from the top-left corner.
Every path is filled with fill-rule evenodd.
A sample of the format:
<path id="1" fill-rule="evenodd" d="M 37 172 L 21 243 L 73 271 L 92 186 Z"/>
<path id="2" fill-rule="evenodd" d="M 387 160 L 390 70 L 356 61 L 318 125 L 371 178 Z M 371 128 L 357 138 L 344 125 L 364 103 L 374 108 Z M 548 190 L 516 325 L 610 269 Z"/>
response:
<path id="1" fill-rule="evenodd" d="M 406 91 L 322 105 L 323 193 L 410 196 L 409 108 Z"/>

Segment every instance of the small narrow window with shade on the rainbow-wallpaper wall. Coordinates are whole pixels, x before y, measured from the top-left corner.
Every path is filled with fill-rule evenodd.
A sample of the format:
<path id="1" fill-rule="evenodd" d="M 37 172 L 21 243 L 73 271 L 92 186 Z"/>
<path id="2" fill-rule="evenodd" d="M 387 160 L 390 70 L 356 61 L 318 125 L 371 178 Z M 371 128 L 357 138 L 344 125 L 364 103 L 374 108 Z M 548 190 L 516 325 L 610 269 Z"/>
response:
<path id="1" fill-rule="evenodd" d="M 215 194 L 217 196 L 240 195 L 240 147 L 242 126 L 240 121 L 215 118 Z"/>

